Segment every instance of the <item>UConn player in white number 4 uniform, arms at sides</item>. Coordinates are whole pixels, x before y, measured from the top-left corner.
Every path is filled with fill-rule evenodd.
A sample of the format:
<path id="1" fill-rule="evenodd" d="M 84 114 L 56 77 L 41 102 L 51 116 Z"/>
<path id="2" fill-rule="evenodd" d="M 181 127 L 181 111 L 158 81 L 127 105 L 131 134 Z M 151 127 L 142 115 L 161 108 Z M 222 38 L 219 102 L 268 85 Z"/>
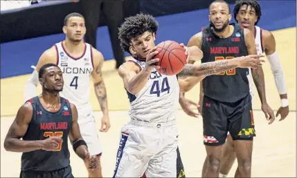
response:
<path id="1" fill-rule="evenodd" d="M 55 63 L 61 68 L 64 77 L 64 90 L 60 92 L 60 95 L 69 99 L 78 108 L 81 135 L 87 142 L 90 154 L 98 157 L 99 166 L 95 170 L 87 169 L 89 177 L 102 177 L 100 166 L 102 148 L 98 139 L 93 110 L 89 103 L 89 82 L 92 77 L 103 113 L 100 131 L 107 132 L 110 123 L 107 93 L 101 72 L 104 58 L 98 50 L 88 43 L 84 43 L 83 38 L 86 32 L 84 24 L 84 17 L 81 14 L 71 13 L 65 17 L 62 30 L 66 34 L 66 39 L 55 43 L 42 54 L 32 76 L 26 83 L 24 94 L 25 100 L 35 97 L 38 83 L 37 73 L 45 63 Z"/>

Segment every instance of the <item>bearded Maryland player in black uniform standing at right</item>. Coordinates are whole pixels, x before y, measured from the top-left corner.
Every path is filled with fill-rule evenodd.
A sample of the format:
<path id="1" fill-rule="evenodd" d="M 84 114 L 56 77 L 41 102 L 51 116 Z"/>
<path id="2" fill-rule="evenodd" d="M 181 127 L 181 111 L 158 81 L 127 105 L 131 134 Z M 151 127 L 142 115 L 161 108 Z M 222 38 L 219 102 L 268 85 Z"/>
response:
<path id="1" fill-rule="evenodd" d="M 229 24 L 231 14 L 226 1 L 213 1 L 209 10 L 210 25 L 188 42 L 188 46 L 201 48 L 204 53 L 202 63 L 257 54 L 253 33 L 249 29 Z M 251 73 L 262 101 L 262 110 L 269 123 L 272 123 L 275 117 L 266 101 L 262 67 L 252 68 Z M 201 82 L 204 145 L 207 152 L 202 177 L 219 177 L 223 144 L 228 132 L 233 137 L 238 161 L 235 177 L 251 177 L 255 126 L 248 75 L 247 68 L 233 68 L 208 76 Z M 183 110 L 189 114 L 191 102 L 183 95 L 180 97 Z M 190 114 L 195 116 L 195 113 Z"/>

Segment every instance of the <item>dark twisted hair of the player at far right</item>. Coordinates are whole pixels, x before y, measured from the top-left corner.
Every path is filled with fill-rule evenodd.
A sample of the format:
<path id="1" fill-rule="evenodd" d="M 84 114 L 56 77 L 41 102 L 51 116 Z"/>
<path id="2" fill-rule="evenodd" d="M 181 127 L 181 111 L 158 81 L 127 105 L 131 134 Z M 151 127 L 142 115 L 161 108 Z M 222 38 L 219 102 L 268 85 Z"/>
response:
<path id="1" fill-rule="evenodd" d="M 258 16 L 258 21 L 255 22 L 255 25 L 257 25 L 257 23 L 260 21 L 260 17 L 262 15 L 262 12 L 261 12 L 260 4 L 256 0 L 239 0 L 239 1 L 235 1 L 235 6 L 234 6 L 234 9 L 233 9 L 233 14 L 234 14 L 235 21 L 238 22 L 237 19 L 236 19 L 237 14 L 240 11 L 240 7 L 242 7 L 244 5 L 251 6 L 252 8 L 255 8 L 255 15 Z"/>

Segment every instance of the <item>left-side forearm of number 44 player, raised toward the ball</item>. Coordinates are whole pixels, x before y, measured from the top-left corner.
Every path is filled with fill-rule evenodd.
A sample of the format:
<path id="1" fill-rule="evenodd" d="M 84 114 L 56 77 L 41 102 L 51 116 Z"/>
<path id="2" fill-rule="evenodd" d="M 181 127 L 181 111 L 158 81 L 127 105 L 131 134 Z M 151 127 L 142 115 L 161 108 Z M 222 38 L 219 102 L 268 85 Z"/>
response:
<path id="1" fill-rule="evenodd" d="M 132 95 L 138 94 L 138 92 L 140 92 L 147 83 L 151 72 L 152 71 L 150 70 L 141 70 L 141 72 L 139 72 L 135 77 L 129 80 L 126 89 Z"/>

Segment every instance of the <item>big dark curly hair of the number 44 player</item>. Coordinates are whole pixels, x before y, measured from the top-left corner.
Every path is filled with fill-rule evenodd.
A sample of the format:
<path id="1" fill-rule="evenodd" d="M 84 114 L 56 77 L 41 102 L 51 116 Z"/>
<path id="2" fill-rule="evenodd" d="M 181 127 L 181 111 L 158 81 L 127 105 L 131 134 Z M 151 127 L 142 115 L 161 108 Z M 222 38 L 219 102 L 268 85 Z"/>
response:
<path id="1" fill-rule="evenodd" d="M 118 39 L 120 46 L 124 51 L 129 52 L 131 40 L 146 31 L 153 32 L 159 28 L 159 23 L 149 14 L 136 14 L 132 17 L 125 18 L 122 26 L 118 29 Z"/>

